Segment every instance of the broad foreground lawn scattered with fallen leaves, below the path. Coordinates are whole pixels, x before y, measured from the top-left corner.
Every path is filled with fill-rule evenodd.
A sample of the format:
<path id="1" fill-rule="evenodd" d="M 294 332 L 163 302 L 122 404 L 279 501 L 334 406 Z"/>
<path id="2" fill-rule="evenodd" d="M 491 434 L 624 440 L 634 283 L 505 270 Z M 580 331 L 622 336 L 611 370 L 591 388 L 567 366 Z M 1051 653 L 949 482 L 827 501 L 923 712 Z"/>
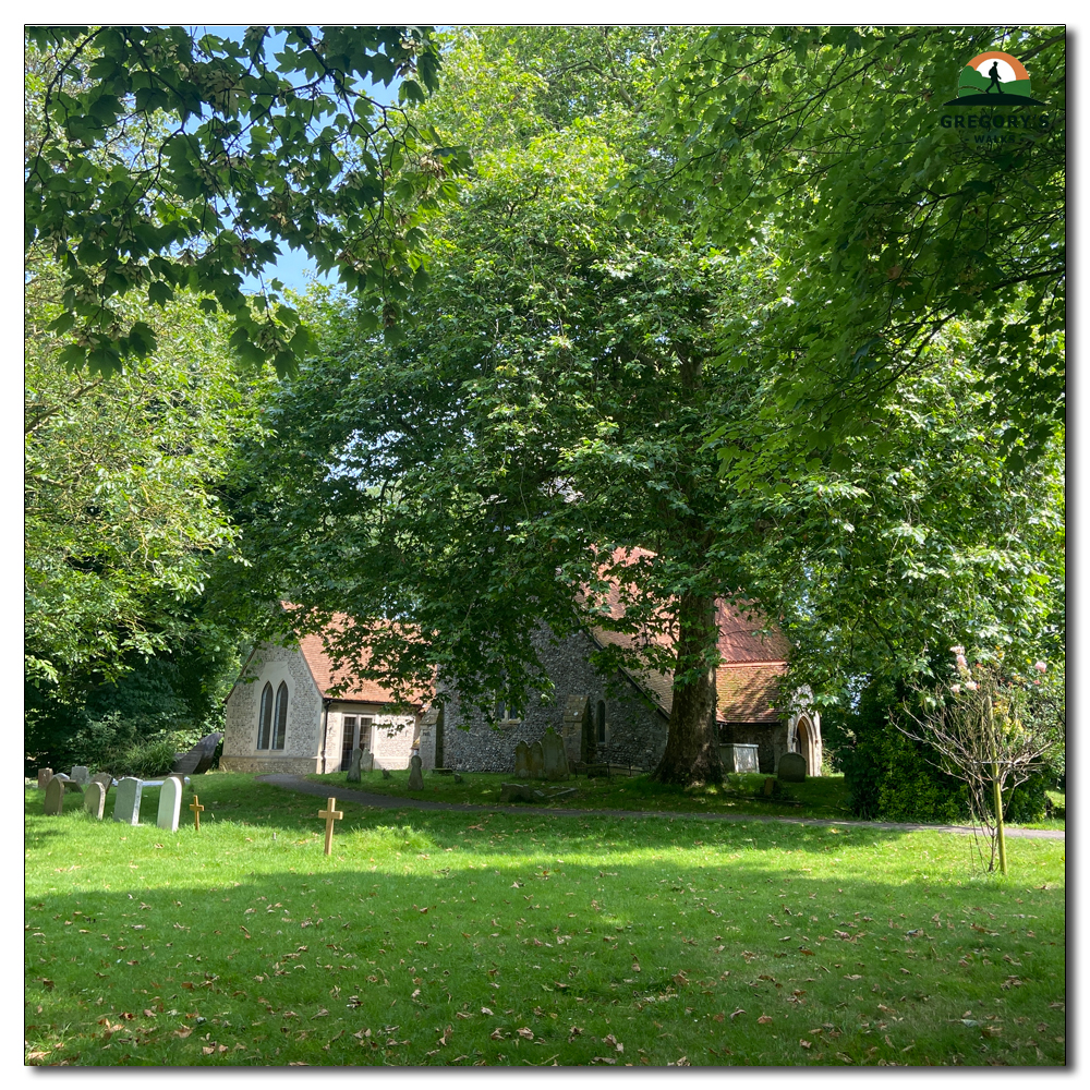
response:
<path id="1" fill-rule="evenodd" d="M 27 1063 L 1065 1063 L 1063 843 L 193 789 L 26 790 Z"/>

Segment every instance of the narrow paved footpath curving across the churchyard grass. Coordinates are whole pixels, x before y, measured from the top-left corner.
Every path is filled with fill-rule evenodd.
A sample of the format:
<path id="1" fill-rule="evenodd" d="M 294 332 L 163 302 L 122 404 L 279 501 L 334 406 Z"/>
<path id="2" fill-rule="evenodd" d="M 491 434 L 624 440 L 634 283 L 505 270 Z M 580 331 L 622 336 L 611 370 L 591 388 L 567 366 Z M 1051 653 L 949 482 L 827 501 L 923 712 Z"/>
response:
<path id="1" fill-rule="evenodd" d="M 894 821 L 838 821 L 835 818 L 778 818 L 766 814 L 692 814 L 667 813 L 661 810 L 568 810 L 559 807 L 529 806 L 474 806 L 469 802 L 436 802 L 432 799 L 408 799 L 396 795 L 373 795 L 370 791 L 353 791 L 344 787 L 334 788 L 331 784 L 315 784 L 303 776 L 287 773 L 274 773 L 267 776 L 254 777 L 262 784 L 272 784 L 289 791 L 301 795 L 314 795 L 317 798 L 329 798 L 336 790 L 340 801 L 358 802 L 364 807 L 376 807 L 382 810 L 451 810 L 458 813 L 508 813 L 508 814 L 545 814 L 556 818 L 668 818 L 686 821 L 765 821 L 782 822 L 788 825 L 836 825 L 844 828 L 883 828 L 903 833 L 956 833 L 971 836 L 974 832 L 968 825 L 911 825 Z M 1007 828 L 1007 836 L 1025 837 L 1037 840 L 1065 840 L 1062 829 L 1051 828 Z"/>

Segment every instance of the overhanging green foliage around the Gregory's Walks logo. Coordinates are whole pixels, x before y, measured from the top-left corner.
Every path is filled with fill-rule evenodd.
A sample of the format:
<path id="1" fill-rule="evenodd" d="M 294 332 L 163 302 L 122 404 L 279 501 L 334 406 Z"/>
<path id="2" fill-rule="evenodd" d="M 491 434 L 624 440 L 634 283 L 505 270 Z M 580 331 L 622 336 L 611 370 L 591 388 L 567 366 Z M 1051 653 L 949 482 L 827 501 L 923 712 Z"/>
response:
<path id="1" fill-rule="evenodd" d="M 1020 123 L 1002 143 L 943 128 L 958 70 L 996 48 L 1031 66 L 1046 109 L 989 107 Z M 789 427 L 740 450 L 724 421 L 725 469 L 881 438 L 886 393 L 955 318 L 980 323 L 978 388 L 1013 467 L 1037 457 L 1064 419 L 1063 29 L 715 27 L 664 70 L 666 154 L 632 198 L 783 258 L 763 370 Z"/>

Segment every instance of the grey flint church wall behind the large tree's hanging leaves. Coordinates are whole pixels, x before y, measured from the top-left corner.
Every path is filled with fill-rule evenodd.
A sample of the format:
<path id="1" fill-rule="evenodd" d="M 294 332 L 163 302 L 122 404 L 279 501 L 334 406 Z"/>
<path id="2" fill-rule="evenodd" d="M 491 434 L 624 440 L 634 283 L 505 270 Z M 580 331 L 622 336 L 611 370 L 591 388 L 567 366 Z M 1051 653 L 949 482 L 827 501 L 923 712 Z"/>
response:
<path id="1" fill-rule="evenodd" d="M 577 633 L 554 645 L 550 633 L 540 626 L 534 634 L 538 657 L 556 687 L 553 702 L 532 698 L 522 719 L 493 728 L 484 716 L 462 707 L 457 690 L 447 689 L 444 713 L 444 764 L 463 772 L 514 772 L 514 747 L 524 741 L 542 741 L 552 727 L 564 737 L 564 708 L 570 695 L 585 695 L 591 715 L 600 700 L 606 705 L 606 741 L 598 742 L 595 761 L 653 768 L 666 749 L 667 719 L 620 673 L 600 674 L 589 656 L 595 644 L 585 633 Z M 614 685 L 609 686 L 608 681 Z M 439 688 L 443 686 L 440 683 Z M 468 726 L 469 729 L 461 729 Z M 421 739 L 424 755 L 425 739 Z M 432 743 L 434 747 L 434 742 Z M 427 760 L 425 758 L 425 766 Z"/>

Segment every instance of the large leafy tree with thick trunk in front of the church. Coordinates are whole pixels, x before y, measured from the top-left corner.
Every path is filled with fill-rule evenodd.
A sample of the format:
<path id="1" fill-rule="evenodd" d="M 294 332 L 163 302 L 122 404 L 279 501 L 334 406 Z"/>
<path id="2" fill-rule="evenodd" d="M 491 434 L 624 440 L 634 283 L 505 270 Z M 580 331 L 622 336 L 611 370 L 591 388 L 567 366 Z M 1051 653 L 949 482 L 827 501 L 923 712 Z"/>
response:
<path id="1" fill-rule="evenodd" d="M 448 61 L 453 90 L 494 71 L 467 61 L 480 39 L 464 49 Z M 573 119 L 528 98 L 509 140 L 474 146 L 404 340 L 384 346 L 325 308 L 322 353 L 279 400 L 257 462 L 250 559 L 269 594 L 311 610 L 301 623 L 355 618 L 347 659 L 367 644 L 371 670 L 402 690 L 438 668 L 482 707 L 546 685 L 537 621 L 626 632 L 603 665 L 674 679 L 657 775 L 714 779 L 715 603 L 743 592 L 758 512 L 717 480 L 703 435 L 744 411 L 752 384 L 724 379 L 716 336 L 767 258 L 726 263 L 681 227 L 618 223 L 613 184 L 638 123 L 623 96 Z M 617 583 L 623 617 L 604 611 Z"/>

